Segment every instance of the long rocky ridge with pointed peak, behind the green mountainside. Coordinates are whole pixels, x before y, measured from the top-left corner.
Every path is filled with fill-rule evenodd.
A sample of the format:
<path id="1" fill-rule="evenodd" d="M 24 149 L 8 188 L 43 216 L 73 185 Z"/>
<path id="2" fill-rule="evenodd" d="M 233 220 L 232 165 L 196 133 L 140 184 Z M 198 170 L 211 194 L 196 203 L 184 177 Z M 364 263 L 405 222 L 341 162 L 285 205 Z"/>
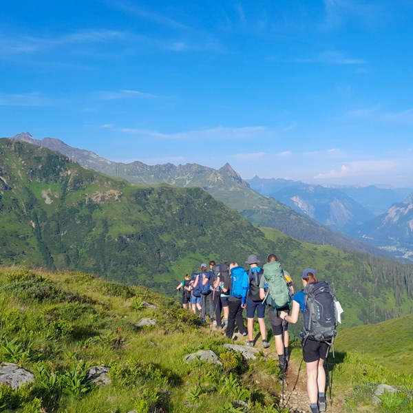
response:
<path id="1" fill-rule="evenodd" d="M 83 167 L 110 176 L 125 178 L 130 182 L 145 182 L 147 184 L 165 182 L 178 187 L 201 187 L 214 198 L 240 212 L 253 224 L 279 229 L 279 231 L 298 240 L 316 244 L 332 244 L 348 250 L 388 256 L 384 251 L 379 251 L 364 242 L 331 231 L 326 226 L 322 226 L 306 215 L 297 213 L 274 198 L 268 198 L 253 191 L 228 163 L 220 169 L 197 164 L 151 166 L 139 161 L 124 164 L 100 158 L 92 151 L 69 147 L 58 139 L 36 140 L 27 133 L 19 134 L 13 138 L 59 151 L 76 160 Z"/>

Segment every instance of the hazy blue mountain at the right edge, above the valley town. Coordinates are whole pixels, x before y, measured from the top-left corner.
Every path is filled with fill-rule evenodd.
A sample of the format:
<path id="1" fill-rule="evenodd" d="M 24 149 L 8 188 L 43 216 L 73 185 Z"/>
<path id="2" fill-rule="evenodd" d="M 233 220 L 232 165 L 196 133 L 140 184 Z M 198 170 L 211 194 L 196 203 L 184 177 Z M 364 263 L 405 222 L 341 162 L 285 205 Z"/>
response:
<path id="1" fill-rule="evenodd" d="M 353 235 L 413 260 L 413 193 L 363 224 Z"/>

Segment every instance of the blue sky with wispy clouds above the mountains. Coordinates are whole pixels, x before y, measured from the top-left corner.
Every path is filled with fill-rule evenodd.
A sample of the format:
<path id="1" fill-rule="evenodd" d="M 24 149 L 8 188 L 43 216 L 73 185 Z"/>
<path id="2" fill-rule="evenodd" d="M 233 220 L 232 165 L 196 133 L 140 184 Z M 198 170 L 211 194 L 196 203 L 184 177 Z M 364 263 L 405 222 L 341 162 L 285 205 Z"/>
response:
<path id="1" fill-rule="evenodd" d="M 412 18 L 412 0 L 3 0 L 0 136 L 412 187 Z"/>

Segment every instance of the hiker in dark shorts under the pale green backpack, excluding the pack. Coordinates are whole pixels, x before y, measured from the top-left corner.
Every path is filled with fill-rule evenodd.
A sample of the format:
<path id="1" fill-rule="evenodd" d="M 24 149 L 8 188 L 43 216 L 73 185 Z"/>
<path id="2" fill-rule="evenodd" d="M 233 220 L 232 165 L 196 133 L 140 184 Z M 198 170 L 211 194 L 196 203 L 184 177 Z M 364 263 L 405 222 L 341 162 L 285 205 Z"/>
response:
<path id="1" fill-rule="evenodd" d="M 267 257 L 267 264 L 278 262 L 277 255 L 270 254 Z M 292 283 L 291 283 L 292 284 Z M 264 275 L 260 280 L 260 298 L 265 299 L 266 290 L 268 288 L 267 280 L 265 278 L 265 266 L 264 266 Z M 267 300 L 271 302 L 271 300 Z M 288 323 L 280 317 L 282 311 L 289 312 L 290 307 L 286 305 L 282 308 L 274 308 L 271 304 L 266 304 L 268 307 L 268 317 L 270 319 L 271 328 L 273 330 L 274 340 L 275 340 L 275 349 L 277 350 L 279 368 L 282 372 L 285 372 L 288 367 L 288 345 L 289 345 L 289 335 L 288 335 Z"/>

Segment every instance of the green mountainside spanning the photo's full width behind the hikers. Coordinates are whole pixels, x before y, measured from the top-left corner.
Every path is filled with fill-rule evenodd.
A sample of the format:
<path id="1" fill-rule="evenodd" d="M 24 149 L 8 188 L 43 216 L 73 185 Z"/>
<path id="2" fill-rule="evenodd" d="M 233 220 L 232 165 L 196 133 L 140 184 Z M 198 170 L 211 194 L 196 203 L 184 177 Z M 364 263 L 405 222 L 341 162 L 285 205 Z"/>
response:
<path id="1" fill-rule="evenodd" d="M 172 295 L 201 262 L 277 253 L 297 286 L 314 266 L 346 326 L 409 314 L 413 266 L 257 228 L 198 187 L 130 184 L 61 153 L 0 139 L 0 264 L 87 271 Z"/>

